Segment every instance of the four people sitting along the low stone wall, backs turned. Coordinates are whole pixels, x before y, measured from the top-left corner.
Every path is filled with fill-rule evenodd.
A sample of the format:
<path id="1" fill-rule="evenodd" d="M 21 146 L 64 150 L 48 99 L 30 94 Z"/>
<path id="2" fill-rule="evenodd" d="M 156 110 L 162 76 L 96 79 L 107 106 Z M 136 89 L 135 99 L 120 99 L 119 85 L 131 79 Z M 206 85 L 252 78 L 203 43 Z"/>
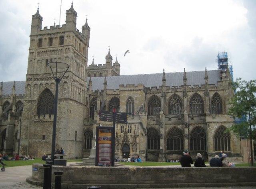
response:
<path id="1" fill-rule="evenodd" d="M 235 167 L 234 163 L 228 162 L 226 159 L 228 156 L 224 153 L 224 151 L 220 152 L 220 155 L 216 155 L 214 158 L 210 160 L 211 167 Z M 200 153 L 196 154 L 195 167 L 206 167 L 204 159 Z M 180 158 L 180 164 L 182 167 L 191 167 L 193 164 L 193 159 L 190 157 L 188 150 L 184 150 L 183 156 Z"/>

